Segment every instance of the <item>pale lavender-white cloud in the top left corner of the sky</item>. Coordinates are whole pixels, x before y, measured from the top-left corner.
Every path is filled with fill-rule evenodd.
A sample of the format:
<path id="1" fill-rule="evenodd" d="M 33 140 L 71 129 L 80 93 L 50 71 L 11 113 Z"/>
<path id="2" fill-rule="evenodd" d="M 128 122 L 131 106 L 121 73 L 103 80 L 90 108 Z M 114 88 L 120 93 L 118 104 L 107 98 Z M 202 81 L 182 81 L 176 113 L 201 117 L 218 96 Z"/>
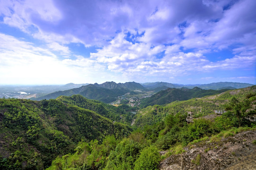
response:
<path id="1" fill-rule="evenodd" d="M 52 0 L 3 0 L 1 4 L 4 23 L 9 26 L 18 27 L 26 33 L 30 33 L 30 26 L 37 26 L 36 17 L 51 23 L 61 19 L 61 13 L 54 7 Z"/>

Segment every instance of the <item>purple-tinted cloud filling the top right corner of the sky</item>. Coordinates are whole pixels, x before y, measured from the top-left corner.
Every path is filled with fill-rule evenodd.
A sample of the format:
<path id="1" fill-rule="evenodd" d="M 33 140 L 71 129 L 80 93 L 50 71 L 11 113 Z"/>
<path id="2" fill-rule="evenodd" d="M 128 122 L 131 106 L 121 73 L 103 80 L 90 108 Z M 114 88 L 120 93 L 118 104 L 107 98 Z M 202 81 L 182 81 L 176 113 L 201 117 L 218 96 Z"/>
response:
<path id="1" fill-rule="evenodd" d="M 252 0 L 241 0 L 234 4 L 213 26 L 213 31 L 206 40 L 215 43 L 216 46 L 246 42 L 245 39 L 249 38 L 246 34 L 256 33 L 256 13 L 252 12 L 255 8 L 256 3 Z"/>

